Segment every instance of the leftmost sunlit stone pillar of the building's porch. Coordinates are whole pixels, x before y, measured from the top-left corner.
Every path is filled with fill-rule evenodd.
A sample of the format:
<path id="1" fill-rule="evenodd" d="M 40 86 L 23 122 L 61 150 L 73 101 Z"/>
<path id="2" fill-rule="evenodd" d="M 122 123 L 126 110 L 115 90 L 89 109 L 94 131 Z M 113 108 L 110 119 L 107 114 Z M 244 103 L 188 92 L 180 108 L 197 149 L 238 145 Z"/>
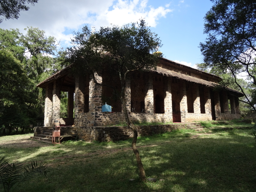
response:
<path id="1" fill-rule="evenodd" d="M 52 126 L 52 84 L 48 84 L 45 93 L 45 105 L 44 105 L 44 126 Z"/>

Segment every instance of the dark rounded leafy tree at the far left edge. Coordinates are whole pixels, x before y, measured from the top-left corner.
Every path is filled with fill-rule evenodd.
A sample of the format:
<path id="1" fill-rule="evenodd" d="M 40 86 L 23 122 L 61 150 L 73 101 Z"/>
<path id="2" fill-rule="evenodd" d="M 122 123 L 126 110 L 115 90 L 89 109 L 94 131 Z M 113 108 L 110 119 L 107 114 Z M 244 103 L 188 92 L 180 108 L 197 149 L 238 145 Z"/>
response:
<path id="1" fill-rule="evenodd" d="M 9 128 L 11 132 L 14 127 L 29 125 L 32 86 L 20 61 L 9 50 L 0 49 L 1 128 Z"/>

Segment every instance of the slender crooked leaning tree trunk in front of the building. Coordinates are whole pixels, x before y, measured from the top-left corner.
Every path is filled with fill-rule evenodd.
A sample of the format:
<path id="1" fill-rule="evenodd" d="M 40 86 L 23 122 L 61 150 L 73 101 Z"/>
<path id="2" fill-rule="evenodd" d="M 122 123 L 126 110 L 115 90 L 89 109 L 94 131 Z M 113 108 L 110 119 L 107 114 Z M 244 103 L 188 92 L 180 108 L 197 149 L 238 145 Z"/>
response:
<path id="1" fill-rule="evenodd" d="M 139 169 L 139 172 L 140 172 L 140 179 L 142 181 L 145 181 L 146 180 L 145 170 L 143 168 L 143 164 L 142 164 L 141 159 L 140 159 L 140 154 L 139 154 L 139 151 L 138 151 L 137 146 L 136 146 L 138 131 L 137 131 L 137 127 L 129 119 L 127 108 L 126 108 L 126 99 L 125 99 L 124 95 L 122 95 L 122 110 L 123 110 L 123 113 L 125 115 L 126 124 L 133 131 L 133 140 L 132 140 L 132 143 L 131 143 L 131 148 L 134 151 L 134 154 L 135 154 L 135 157 L 136 157 L 136 160 L 137 160 L 137 166 L 138 166 L 138 169 Z"/>

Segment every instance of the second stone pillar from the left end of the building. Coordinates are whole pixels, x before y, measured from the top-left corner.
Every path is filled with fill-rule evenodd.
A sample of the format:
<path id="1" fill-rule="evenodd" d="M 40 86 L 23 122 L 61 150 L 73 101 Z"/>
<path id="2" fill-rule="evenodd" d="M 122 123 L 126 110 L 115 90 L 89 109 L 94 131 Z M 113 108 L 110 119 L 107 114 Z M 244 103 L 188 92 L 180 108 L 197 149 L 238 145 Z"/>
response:
<path id="1" fill-rule="evenodd" d="M 53 102 L 52 102 L 52 117 L 53 126 L 60 125 L 60 110 L 61 110 L 61 82 L 55 80 L 53 84 Z"/>

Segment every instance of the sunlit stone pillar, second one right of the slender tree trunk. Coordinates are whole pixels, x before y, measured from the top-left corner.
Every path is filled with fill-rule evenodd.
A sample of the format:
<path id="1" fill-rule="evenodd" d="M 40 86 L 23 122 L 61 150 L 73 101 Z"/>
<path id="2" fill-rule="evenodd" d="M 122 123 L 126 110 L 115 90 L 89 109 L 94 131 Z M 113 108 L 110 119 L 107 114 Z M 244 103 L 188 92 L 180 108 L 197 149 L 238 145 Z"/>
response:
<path id="1" fill-rule="evenodd" d="M 154 113 L 154 91 L 151 74 L 148 74 L 148 82 L 146 84 L 145 113 Z"/>

